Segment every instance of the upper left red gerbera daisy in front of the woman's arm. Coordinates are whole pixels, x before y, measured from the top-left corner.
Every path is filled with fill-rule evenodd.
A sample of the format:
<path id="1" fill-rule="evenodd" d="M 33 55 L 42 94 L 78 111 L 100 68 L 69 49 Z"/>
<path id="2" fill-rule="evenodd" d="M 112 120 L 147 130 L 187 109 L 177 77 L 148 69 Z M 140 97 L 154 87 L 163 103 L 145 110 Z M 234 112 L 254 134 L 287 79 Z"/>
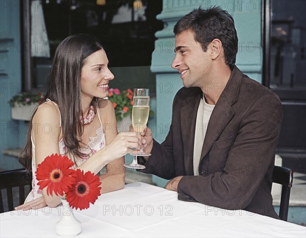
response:
<path id="1" fill-rule="evenodd" d="M 75 170 L 69 169 L 73 162 L 67 156 L 52 154 L 38 165 L 36 177 L 40 189 L 47 187 L 47 194 L 54 192 L 63 196 L 75 184 Z"/>

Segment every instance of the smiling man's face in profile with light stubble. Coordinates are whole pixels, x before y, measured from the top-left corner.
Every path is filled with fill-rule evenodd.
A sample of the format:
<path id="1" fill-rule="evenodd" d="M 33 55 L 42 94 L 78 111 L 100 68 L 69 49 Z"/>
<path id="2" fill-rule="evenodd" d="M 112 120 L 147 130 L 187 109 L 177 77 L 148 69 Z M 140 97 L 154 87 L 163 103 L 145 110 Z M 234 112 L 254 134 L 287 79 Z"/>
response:
<path id="1" fill-rule="evenodd" d="M 175 37 L 176 55 L 172 62 L 172 68 L 179 70 L 183 85 L 189 87 L 205 87 L 210 81 L 211 58 L 202 50 L 201 44 L 194 40 L 192 31 L 183 31 Z"/>

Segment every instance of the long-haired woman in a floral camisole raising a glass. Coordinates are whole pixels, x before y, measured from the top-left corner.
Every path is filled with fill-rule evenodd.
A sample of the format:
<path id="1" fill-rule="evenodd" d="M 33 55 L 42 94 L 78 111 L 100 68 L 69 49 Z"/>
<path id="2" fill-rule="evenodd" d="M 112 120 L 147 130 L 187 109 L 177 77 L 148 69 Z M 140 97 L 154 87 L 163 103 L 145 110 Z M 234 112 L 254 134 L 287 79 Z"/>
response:
<path id="1" fill-rule="evenodd" d="M 15 209 L 56 207 L 60 197 L 48 196 L 37 186 L 36 167 L 53 153 L 66 154 L 74 168 L 100 175 L 101 193 L 124 187 L 124 155 L 140 149 L 137 133 L 117 133 L 116 117 L 108 96 L 114 75 L 108 68 L 103 47 L 90 35 L 63 40 L 55 53 L 49 74 L 46 102 L 34 113 L 27 143 L 19 161 L 32 169 L 33 189 L 25 203 Z M 107 129 L 106 129 L 107 128 Z M 25 159 L 24 159 L 25 158 Z M 32 168 L 31 168 L 32 167 Z"/>

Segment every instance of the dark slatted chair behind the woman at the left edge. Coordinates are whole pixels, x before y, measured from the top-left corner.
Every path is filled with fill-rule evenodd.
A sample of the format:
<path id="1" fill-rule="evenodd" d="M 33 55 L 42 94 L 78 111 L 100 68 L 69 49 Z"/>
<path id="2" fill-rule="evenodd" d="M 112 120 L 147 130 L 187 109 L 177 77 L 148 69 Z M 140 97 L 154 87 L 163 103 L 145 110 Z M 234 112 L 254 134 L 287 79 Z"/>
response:
<path id="1" fill-rule="evenodd" d="M 30 185 L 32 190 L 32 174 L 26 169 L 15 169 L 0 172 L 0 213 L 4 212 L 1 190 L 6 189 L 8 211 L 14 210 L 14 207 L 23 204 L 25 200 L 24 187 Z M 13 204 L 12 188 L 19 187 L 19 204 Z M 7 208 L 7 207 L 6 207 Z M 7 210 L 7 209 L 6 209 Z"/>

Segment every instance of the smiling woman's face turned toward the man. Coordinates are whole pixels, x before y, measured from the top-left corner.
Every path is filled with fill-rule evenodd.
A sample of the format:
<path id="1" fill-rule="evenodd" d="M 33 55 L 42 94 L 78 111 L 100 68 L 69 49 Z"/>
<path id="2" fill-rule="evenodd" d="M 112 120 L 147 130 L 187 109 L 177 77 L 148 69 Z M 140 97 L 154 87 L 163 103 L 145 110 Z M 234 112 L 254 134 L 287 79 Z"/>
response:
<path id="1" fill-rule="evenodd" d="M 100 49 L 85 60 L 81 73 L 82 99 L 93 97 L 104 98 L 108 96 L 109 82 L 114 75 L 108 68 L 108 59 L 104 49 Z"/>

